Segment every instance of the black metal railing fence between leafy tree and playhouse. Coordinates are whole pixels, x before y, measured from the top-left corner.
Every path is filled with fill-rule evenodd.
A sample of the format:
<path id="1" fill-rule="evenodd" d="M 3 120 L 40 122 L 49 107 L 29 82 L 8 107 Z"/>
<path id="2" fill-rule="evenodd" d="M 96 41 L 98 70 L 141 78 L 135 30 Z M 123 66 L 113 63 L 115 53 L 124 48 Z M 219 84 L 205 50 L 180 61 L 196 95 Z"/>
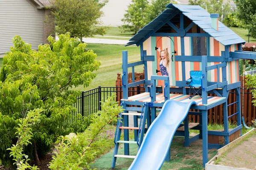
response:
<path id="1" fill-rule="evenodd" d="M 145 92 L 143 86 L 136 86 L 128 88 L 128 96 L 134 96 Z M 97 87 L 89 91 L 82 91 L 81 96 L 77 98 L 75 107 L 78 113 L 82 116 L 89 116 L 92 113 L 96 113 L 101 110 L 101 102 L 105 102 L 108 96 L 112 93 L 116 93 L 116 102 L 120 102 L 122 99 L 122 87 Z"/>

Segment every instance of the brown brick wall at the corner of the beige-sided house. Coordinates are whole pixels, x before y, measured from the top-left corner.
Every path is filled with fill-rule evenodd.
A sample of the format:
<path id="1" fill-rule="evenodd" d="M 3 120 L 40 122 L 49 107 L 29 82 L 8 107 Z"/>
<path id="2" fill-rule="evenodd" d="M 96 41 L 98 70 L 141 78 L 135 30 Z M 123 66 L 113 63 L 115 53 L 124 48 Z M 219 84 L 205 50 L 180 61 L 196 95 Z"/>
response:
<path id="1" fill-rule="evenodd" d="M 55 17 L 52 14 L 51 9 L 45 9 L 44 10 L 44 44 L 49 43 L 47 38 L 49 35 L 52 35 L 52 37 L 55 37 L 55 23 L 54 23 Z"/>

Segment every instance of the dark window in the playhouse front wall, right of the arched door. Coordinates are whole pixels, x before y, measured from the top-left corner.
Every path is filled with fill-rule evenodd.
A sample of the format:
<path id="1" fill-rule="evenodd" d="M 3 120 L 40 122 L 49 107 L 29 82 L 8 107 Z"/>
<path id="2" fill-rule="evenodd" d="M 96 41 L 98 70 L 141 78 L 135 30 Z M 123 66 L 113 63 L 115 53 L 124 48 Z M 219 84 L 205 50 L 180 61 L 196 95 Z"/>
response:
<path id="1" fill-rule="evenodd" d="M 206 37 L 193 37 L 193 55 L 206 56 Z"/>

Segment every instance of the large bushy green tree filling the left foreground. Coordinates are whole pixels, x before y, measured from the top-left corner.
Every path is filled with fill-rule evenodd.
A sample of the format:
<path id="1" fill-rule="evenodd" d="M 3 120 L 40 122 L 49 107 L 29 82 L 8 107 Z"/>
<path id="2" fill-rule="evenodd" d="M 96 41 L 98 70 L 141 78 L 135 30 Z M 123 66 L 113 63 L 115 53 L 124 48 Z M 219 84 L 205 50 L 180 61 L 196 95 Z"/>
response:
<path id="1" fill-rule="evenodd" d="M 73 86 L 88 86 L 99 68 L 93 51 L 86 51 L 86 44 L 70 34 L 60 34 L 59 40 L 48 37 L 51 45 L 39 45 L 33 51 L 31 45 L 19 36 L 13 39 L 14 47 L 3 58 L 0 74 L 0 159 L 10 164 L 9 151 L 12 144 L 23 146 L 29 158 L 38 160 L 38 155 L 47 152 L 61 135 L 82 132 L 87 128 L 87 119 L 73 107 L 81 92 Z M 85 52 L 86 51 L 86 52 Z M 38 113 L 38 109 L 40 109 Z M 24 124 L 29 113 L 40 114 L 37 123 Z M 34 117 L 33 115 L 30 115 Z M 71 121 L 72 119 L 76 121 Z M 22 126 L 21 126 L 22 125 Z M 29 143 L 16 135 L 17 128 L 31 132 Z M 24 130 L 23 130 L 24 131 Z M 20 144 L 21 143 L 21 144 Z M 26 144 L 28 144 L 26 146 Z M 16 154 L 17 155 L 17 154 Z"/>

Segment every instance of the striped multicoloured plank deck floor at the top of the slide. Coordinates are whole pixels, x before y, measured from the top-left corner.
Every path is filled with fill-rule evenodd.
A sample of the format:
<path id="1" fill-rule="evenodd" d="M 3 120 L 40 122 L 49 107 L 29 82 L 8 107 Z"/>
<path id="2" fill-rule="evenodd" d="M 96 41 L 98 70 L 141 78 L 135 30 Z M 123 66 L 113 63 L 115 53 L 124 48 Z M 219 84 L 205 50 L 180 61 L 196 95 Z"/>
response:
<path id="1" fill-rule="evenodd" d="M 163 97 L 160 97 L 162 94 L 156 94 L 156 101 L 154 103 L 164 103 Z M 192 99 L 189 99 L 189 95 L 183 94 L 170 94 L 170 99 L 175 100 L 177 102 L 190 102 L 195 101 L 198 106 L 208 106 L 215 104 L 221 100 L 225 100 L 226 97 L 217 97 L 217 96 L 207 96 L 207 105 L 202 104 L 202 98 L 200 96 L 194 96 Z M 151 98 L 148 92 L 137 94 L 135 96 L 128 97 L 128 99 L 122 99 L 122 101 L 128 102 L 151 102 Z"/>

